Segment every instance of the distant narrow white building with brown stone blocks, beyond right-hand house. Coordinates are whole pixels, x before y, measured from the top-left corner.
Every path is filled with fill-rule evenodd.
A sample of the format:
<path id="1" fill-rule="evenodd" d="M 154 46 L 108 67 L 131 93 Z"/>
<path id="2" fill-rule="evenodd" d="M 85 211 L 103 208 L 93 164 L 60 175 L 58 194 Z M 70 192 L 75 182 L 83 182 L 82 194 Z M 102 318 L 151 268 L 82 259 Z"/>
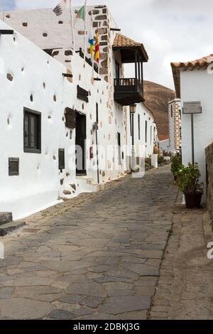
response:
<path id="1" fill-rule="evenodd" d="M 170 141 L 168 151 L 175 153 L 181 148 L 181 110 L 180 99 L 168 102 Z"/>

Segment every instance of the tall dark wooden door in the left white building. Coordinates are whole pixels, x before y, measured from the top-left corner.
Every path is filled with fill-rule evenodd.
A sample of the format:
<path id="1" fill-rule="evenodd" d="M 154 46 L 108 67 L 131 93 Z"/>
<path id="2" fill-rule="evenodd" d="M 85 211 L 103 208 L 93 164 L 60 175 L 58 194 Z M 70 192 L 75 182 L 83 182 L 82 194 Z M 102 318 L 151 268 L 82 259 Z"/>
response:
<path id="1" fill-rule="evenodd" d="M 87 137 L 86 116 L 77 114 L 76 116 L 76 134 L 75 134 L 76 174 L 87 174 L 86 147 L 85 147 L 86 137 Z"/>

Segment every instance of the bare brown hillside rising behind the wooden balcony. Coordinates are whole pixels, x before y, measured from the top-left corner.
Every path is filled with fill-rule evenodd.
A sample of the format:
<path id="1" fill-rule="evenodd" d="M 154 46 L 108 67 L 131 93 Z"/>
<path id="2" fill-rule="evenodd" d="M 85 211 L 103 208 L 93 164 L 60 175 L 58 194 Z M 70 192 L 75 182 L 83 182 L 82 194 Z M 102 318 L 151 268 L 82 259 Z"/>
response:
<path id="1" fill-rule="evenodd" d="M 144 81 L 144 95 L 146 105 L 155 116 L 158 134 L 168 136 L 168 101 L 175 99 L 175 92 L 155 82 Z"/>

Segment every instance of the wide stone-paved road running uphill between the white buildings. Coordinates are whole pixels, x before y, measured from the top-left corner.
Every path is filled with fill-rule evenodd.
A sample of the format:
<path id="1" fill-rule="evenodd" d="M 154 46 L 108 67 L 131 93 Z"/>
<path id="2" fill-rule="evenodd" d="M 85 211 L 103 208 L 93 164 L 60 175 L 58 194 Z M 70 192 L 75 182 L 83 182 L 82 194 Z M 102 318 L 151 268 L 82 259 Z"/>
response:
<path id="1" fill-rule="evenodd" d="M 166 166 L 0 238 L 0 318 L 146 318 L 176 198 Z"/>

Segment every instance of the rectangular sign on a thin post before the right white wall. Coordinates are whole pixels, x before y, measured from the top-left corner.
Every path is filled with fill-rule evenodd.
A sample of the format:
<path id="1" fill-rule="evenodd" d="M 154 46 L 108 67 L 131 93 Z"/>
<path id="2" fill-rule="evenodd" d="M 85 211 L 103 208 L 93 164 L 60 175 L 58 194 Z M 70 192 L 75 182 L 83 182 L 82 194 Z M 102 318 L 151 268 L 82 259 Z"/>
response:
<path id="1" fill-rule="evenodd" d="M 194 114 L 202 114 L 201 102 L 183 102 L 182 114 L 191 115 L 192 128 L 192 165 L 195 165 Z"/>

